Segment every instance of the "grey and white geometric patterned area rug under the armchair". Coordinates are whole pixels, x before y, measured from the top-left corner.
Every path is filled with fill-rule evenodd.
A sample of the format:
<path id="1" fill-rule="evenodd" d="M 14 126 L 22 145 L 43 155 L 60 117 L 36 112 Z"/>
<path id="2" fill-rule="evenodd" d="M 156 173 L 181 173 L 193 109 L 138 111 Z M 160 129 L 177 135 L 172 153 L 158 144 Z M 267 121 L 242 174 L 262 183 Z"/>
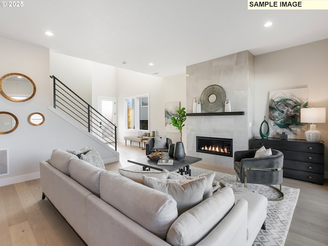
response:
<path id="1" fill-rule="evenodd" d="M 133 165 L 126 170 L 142 170 L 142 167 Z M 197 176 L 202 173 L 212 173 L 214 171 L 190 167 L 192 176 Z M 278 197 L 278 193 L 264 185 L 256 185 L 249 183 L 247 189 L 243 187 L 242 183 L 236 181 L 235 175 L 226 173 L 214 172 L 214 182 L 220 186 L 229 186 L 235 193 L 238 192 L 257 192 L 268 198 Z M 279 186 L 277 186 L 279 188 Z M 296 207 L 299 189 L 282 186 L 283 200 L 268 201 L 267 219 L 265 225 L 267 230 L 260 230 L 253 246 L 283 246 L 288 234 L 288 230 L 292 221 L 293 213 Z"/>

